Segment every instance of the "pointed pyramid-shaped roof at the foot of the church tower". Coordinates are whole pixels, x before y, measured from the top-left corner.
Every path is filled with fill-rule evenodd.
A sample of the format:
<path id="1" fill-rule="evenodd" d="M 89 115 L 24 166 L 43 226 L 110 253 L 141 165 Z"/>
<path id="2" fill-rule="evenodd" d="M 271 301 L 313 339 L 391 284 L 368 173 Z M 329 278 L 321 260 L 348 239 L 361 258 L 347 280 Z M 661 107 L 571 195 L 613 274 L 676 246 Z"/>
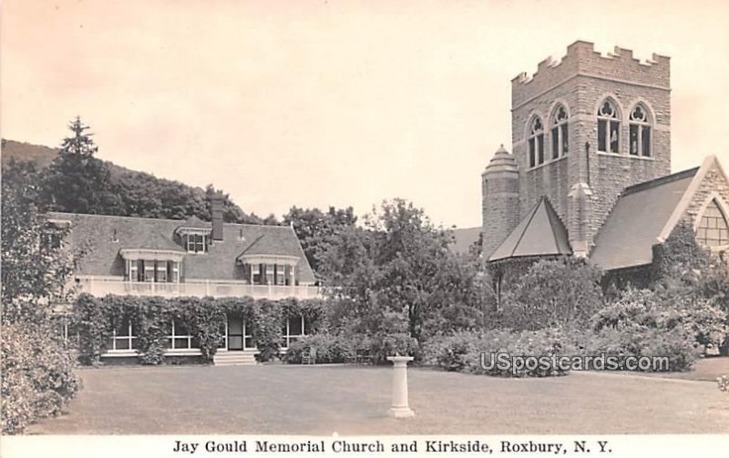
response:
<path id="1" fill-rule="evenodd" d="M 572 250 L 569 240 L 567 229 L 549 199 L 542 197 L 488 260 L 570 255 Z"/>

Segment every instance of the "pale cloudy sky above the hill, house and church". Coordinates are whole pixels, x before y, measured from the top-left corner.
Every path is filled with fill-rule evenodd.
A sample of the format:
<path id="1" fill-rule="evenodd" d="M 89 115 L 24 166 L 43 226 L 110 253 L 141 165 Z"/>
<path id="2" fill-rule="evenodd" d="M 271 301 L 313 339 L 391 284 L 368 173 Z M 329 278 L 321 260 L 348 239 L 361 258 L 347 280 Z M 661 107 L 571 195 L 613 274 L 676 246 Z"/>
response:
<path id="1" fill-rule="evenodd" d="M 247 212 L 406 198 L 480 225 L 510 80 L 576 40 L 671 56 L 674 171 L 729 167 L 729 2 L 5 0 L 0 133 L 230 193 Z"/>

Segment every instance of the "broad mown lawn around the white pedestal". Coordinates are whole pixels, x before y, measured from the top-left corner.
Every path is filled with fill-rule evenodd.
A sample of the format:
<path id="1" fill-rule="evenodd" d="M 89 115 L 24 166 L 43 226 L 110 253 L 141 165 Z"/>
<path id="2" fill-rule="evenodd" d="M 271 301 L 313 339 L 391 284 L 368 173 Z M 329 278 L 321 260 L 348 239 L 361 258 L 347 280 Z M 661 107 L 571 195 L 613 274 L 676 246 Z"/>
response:
<path id="1" fill-rule="evenodd" d="M 725 365 L 729 372 L 729 359 L 717 361 L 709 371 Z M 388 367 L 118 367 L 80 374 L 85 388 L 68 412 L 29 433 L 729 432 L 729 395 L 704 380 L 595 372 L 514 380 L 410 369 L 416 417 L 394 420 L 386 416 Z"/>

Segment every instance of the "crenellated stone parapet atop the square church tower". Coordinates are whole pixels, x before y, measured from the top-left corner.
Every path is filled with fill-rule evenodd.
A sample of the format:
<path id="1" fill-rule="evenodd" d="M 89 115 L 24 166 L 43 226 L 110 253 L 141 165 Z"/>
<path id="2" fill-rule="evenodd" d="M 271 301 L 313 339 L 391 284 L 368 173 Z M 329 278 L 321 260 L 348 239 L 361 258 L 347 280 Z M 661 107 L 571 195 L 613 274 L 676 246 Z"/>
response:
<path id="1" fill-rule="evenodd" d="M 592 43 L 576 41 L 567 47 L 567 55 L 560 60 L 548 57 L 539 62 L 537 73 L 520 73 L 511 80 L 512 107 L 519 107 L 533 97 L 556 87 L 574 76 L 592 76 L 612 81 L 669 89 L 671 78 L 670 57 L 652 55 L 649 61 L 633 57 L 631 49 L 615 46 L 612 53 L 603 56 Z"/>

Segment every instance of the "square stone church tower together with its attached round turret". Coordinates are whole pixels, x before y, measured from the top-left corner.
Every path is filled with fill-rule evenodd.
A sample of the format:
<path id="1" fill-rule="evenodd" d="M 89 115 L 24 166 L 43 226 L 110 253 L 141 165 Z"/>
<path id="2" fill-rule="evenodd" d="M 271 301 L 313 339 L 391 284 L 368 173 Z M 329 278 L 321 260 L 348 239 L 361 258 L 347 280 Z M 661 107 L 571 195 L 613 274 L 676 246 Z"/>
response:
<path id="1" fill-rule="evenodd" d="M 514 78 L 513 154 L 499 148 L 482 176 L 484 256 L 542 196 L 587 256 L 622 190 L 670 173 L 670 94 L 668 57 L 601 56 L 582 41 Z"/>

